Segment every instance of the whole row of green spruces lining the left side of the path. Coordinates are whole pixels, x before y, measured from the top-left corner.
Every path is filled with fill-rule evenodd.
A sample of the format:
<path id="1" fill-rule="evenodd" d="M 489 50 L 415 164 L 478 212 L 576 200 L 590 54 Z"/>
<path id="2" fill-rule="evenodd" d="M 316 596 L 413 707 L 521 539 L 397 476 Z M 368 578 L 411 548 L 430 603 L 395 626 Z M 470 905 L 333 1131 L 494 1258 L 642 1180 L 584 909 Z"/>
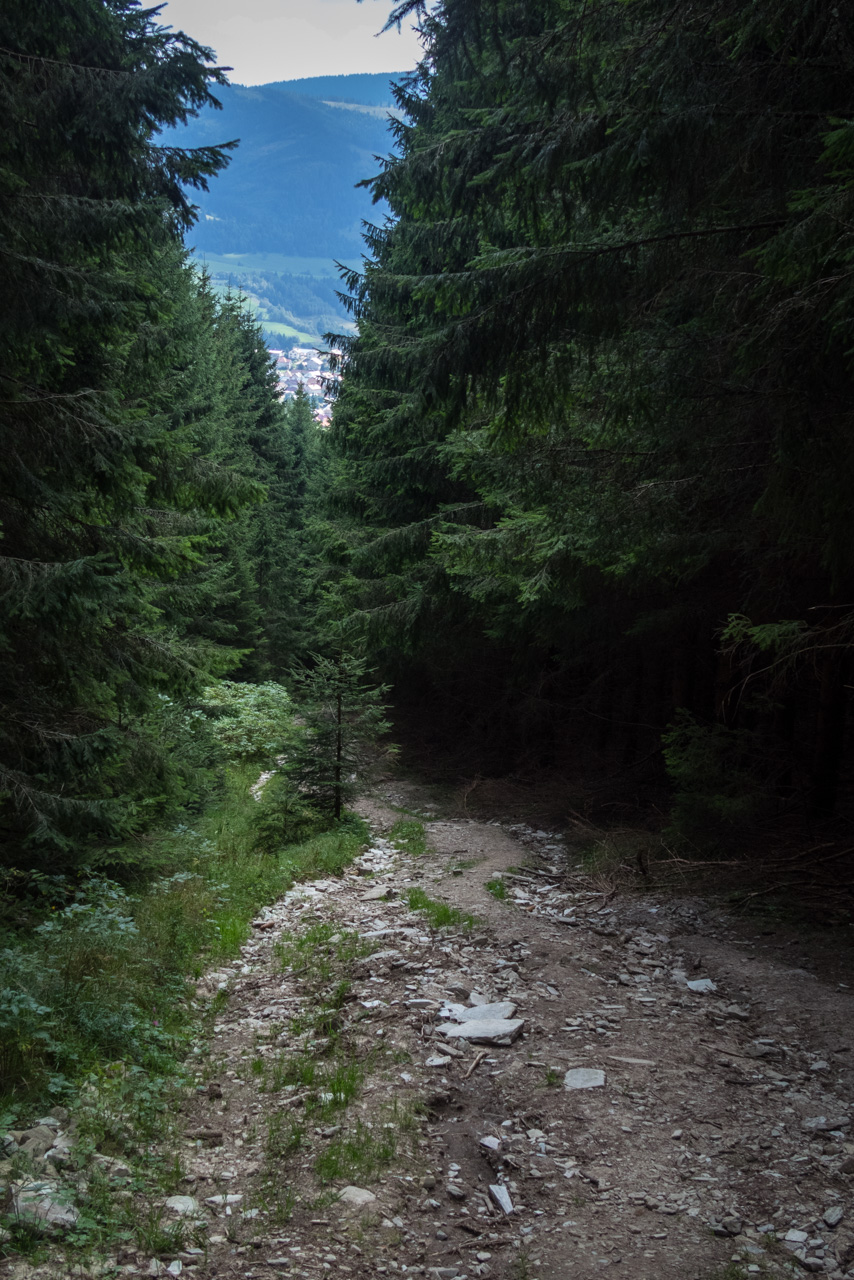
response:
<path id="1" fill-rule="evenodd" d="M 318 433 L 182 246 L 233 143 L 156 136 L 218 106 L 210 50 L 129 4 L 6 18 L 0 837 L 8 865 L 111 867 L 288 740 L 279 687 L 211 682 L 296 655 Z"/>

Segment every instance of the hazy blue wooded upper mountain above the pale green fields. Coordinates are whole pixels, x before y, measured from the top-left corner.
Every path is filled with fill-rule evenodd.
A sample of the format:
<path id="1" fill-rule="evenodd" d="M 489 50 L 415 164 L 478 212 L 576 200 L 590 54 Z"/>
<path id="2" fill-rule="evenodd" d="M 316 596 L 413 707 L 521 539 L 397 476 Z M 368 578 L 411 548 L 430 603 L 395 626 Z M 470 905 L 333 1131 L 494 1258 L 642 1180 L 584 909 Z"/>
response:
<path id="1" fill-rule="evenodd" d="M 391 148 L 385 120 L 280 86 L 234 84 L 219 96 L 222 111 L 206 110 L 179 134 L 183 146 L 241 140 L 225 173 L 195 197 L 202 218 L 191 244 L 211 253 L 359 255 L 362 219 L 383 211 L 356 183 Z"/>

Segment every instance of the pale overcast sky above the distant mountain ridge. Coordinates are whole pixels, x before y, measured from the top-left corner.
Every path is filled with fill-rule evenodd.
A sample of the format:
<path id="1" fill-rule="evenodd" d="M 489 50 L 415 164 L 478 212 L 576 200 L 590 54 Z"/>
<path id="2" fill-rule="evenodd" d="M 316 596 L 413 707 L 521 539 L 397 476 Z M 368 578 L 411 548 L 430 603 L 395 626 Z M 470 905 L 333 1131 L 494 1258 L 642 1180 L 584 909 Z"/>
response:
<path id="1" fill-rule="evenodd" d="M 169 0 L 160 22 L 216 50 L 234 84 L 302 76 L 405 72 L 415 32 L 383 29 L 392 0 Z"/>

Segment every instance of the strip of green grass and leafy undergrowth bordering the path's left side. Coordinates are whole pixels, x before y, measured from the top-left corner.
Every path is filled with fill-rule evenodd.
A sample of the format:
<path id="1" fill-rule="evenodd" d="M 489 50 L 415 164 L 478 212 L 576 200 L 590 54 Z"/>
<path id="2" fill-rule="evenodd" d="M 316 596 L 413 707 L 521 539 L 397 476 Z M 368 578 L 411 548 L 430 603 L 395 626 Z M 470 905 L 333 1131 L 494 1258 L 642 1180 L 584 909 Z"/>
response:
<path id="1" fill-rule="evenodd" d="M 114 1064 L 174 1071 L 196 1016 L 192 979 L 239 952 L 261 906 L 356 856 L 366 832 L 357 818 L 260 852 L 254 780 L 255 771 L 232 771 L 192 827 L 149 840 L 147 868 L 124 883 L 51 877 L 47 901 L 24 904 L 28 927 L 0 931 L 0 1100 L 10 1124 Z"/>

